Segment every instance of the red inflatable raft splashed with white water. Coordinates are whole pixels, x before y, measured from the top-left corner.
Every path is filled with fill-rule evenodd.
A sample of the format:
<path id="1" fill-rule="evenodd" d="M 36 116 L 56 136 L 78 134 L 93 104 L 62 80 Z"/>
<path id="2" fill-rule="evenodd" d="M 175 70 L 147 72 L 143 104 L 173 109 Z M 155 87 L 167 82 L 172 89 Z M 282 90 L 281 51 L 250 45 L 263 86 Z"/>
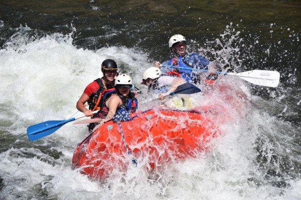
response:
<path id="1" fill-rule="evenodd" d="M 77 146 L 73 167 L 101 180 L 113 169 L 125 171 L 130 163 L 158 170 L 174 160 L 196 157 L 218 133 L 209 117 L 212 114 L 208 107 L 198 111 L 151 109 L 127 122 L 110 121 Z"/>

